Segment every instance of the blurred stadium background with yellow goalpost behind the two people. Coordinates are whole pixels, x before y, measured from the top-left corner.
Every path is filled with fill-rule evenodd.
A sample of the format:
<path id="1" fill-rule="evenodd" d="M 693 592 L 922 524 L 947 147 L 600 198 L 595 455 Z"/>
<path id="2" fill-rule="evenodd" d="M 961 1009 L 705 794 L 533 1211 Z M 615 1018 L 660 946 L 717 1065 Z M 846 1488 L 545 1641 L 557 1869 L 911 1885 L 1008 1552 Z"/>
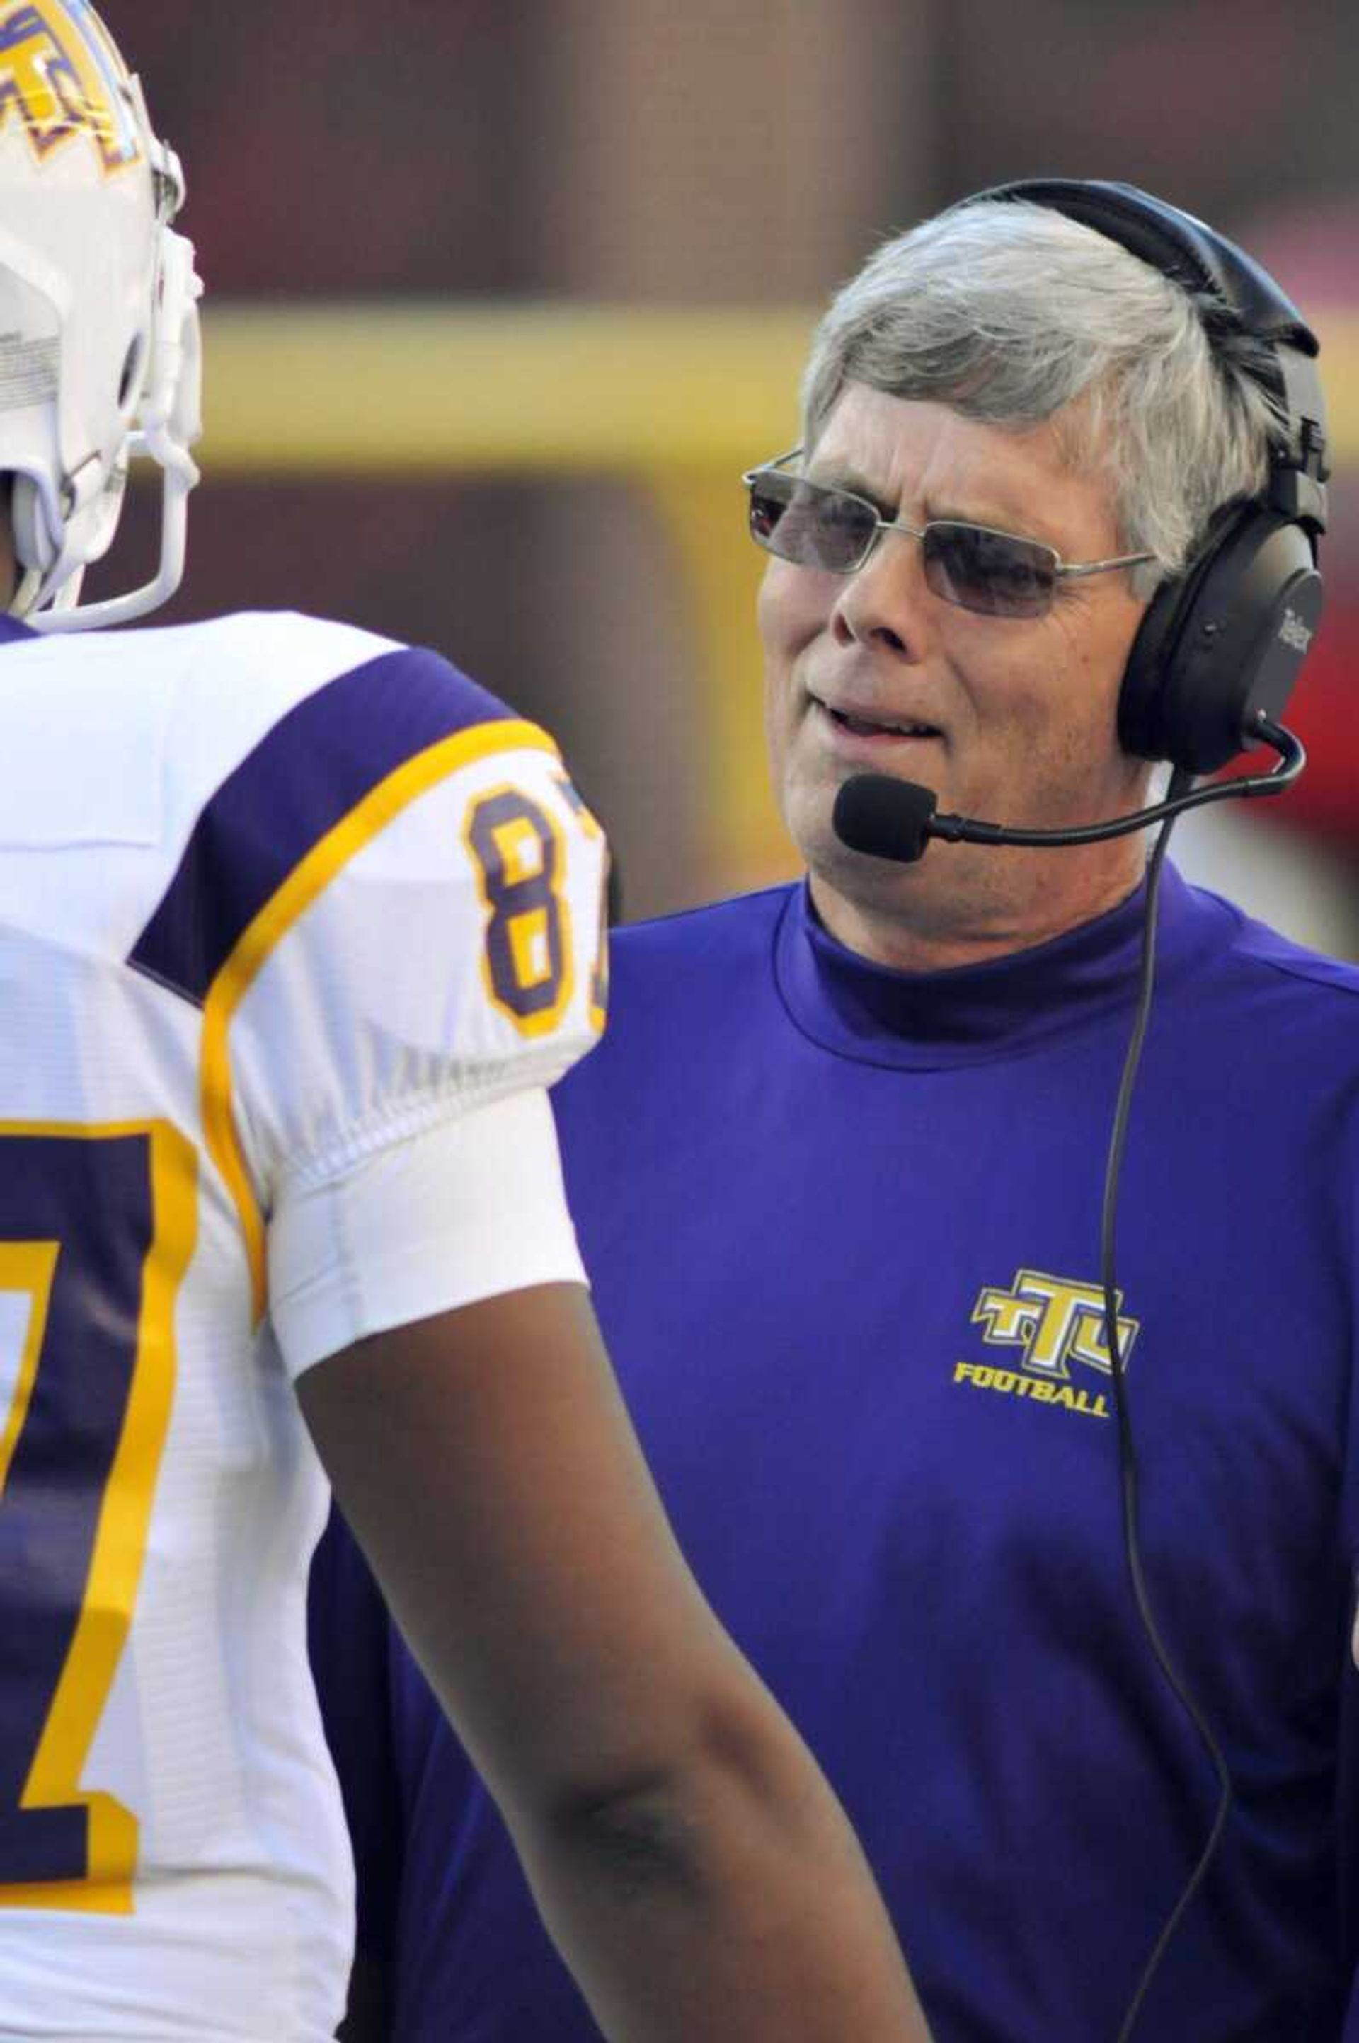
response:
<path id="1" fill-rule="evenodd" d="M 738 476 L 795 437 L 826 292 L 879 235 L 1042 172 L 1236 235 L 1324 341 L 1328 615 L 1300 791 L 1177 846 L 1359 956 L 1349 0 L 104 12 L 184 157 L 208 284 L 204 484 L 168 615 L 294 607 L 448 652 L 560 735 L 629 917 L 793 870 Z"/>

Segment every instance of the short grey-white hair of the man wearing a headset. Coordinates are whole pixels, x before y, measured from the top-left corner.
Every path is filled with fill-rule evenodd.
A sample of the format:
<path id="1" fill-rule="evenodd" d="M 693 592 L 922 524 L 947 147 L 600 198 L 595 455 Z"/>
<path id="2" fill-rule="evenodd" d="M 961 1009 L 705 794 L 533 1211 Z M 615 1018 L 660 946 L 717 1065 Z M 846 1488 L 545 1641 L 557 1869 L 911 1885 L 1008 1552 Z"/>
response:
<path id="1" fill-rule="evenodd" d="M 1108 476 L 1138 595 L 1177 574 L 1226 503 L 1257 496 L 1283 437 L 1267 343 L 1222 331 L 1128 249 L 1028 200 L 952 206 L 885 241 L 832 300 L 803 376 L 811 447 L 846 384 L 952 405 L 1005 431 L 1059 421 Z"/>

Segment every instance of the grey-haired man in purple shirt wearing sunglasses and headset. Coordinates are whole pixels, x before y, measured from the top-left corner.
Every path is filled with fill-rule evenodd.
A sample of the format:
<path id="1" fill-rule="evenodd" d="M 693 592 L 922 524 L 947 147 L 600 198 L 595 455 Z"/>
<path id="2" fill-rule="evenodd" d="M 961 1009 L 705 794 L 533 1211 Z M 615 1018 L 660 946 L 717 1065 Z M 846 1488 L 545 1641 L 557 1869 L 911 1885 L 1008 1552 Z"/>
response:
<path id="1" fill-rule="evenodd" d="M 809 878 L 623 930 L 558 1091 L 674 1526 L 836 1784 L 938 2043 L 1345 2023 L 1359 975 L 1153 862 L 1114 1226 L 1149 838 L 924 836 L 932 797 L 1110 821 L 1153 760 L 1183 791 L 1277 738 L 1318 605 L 1312 353 L 1249 257 L 1124 186 L 885 243 L 817 331 L 801 449 L 748 476 Z M 840 809 L 850 848 L 862 774 L 926 795 Z M 313 1616 L 386 1996 L 354 2035 L 584 2043 L 339 1534 Z"/>

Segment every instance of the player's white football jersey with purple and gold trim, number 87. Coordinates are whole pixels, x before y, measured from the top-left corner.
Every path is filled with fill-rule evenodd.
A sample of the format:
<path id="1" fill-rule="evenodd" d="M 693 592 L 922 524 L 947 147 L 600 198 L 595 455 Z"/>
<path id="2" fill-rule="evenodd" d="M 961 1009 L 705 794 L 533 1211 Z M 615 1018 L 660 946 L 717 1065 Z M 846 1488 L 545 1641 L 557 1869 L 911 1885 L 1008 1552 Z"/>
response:
<path id="1" fill-rule="evenodd" d="M 292 1379 L 580 1275 L 542 1087 L 603 1024 L 603 862 L 433 654 L 0 623 L 4 2043 L 333 2035 Z"/>

